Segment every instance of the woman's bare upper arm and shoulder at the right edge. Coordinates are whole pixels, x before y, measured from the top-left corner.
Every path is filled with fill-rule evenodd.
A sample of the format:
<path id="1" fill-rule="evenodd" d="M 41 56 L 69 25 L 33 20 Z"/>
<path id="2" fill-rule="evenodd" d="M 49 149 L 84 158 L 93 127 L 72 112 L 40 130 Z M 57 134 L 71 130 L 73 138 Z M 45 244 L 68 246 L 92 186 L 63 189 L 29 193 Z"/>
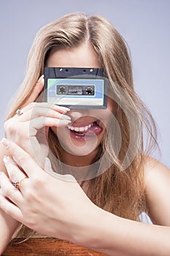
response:
<path id="1" fill-rule="evenodd" d="M 152 222 L 170 226 L 170 170 L 156 159 L 145 157 L 145 192 Z"/>

